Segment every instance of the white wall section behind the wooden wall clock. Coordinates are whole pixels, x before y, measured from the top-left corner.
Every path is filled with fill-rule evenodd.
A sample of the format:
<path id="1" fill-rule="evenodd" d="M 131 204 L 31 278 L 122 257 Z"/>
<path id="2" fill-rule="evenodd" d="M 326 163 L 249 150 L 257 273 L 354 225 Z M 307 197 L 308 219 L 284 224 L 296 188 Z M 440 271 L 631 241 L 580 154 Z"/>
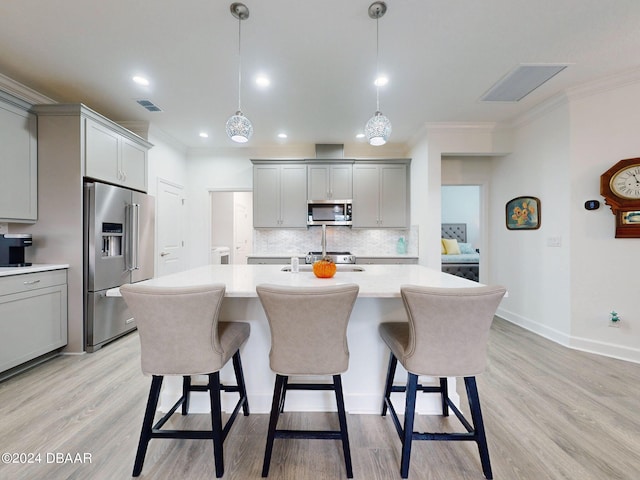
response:
<path id="1" fill-rule="evenodd" d="M 572 345 L 640 362 L 640 239 L 614 238 L 615 217 L 599 195 L 602 173 L 640 157 L 640 78 L 575 90 L 570 99 Z M 589 199 L 600 209 L 586 211 Z M 608 327 L 612 308 L 620 328 Z"/>

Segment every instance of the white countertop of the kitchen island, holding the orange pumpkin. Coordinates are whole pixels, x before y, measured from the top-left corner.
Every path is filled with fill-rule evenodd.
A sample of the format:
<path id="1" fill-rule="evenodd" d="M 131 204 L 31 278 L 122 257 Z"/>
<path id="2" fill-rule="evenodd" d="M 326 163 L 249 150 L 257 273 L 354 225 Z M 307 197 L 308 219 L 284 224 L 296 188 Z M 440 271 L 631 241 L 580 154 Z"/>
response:
<path id="1" fill-rule="evenodd" d="M 256 297 L 256 286 L 272 283 L 286 286 L 325 286 L 357 283 L 359 297 L 400 297 L 400 285 L 413 284 L 431 287 L 465 288 L 481 284 L 442 273 L 422 265 L 338 265 L 333 278 L 316 278 L 310 265 L 300 265 L 300 272 L 282 271 L 286 265 L 206 265 L 180 273 L 152 278 L 144 285 L 184 287 L 224 283 L 227 297 Z M 359 271 L 349 271 L 357 269 Z M 117 288 L 107 296 L 119 296 Z"/>

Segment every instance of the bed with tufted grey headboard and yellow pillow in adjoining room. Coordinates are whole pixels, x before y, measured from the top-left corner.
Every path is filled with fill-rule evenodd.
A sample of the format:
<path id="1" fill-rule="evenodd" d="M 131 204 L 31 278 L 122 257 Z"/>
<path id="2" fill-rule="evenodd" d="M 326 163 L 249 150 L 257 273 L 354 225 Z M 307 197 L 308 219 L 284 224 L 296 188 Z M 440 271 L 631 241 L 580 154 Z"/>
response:
<path id="1" fill-rule="evenodd" d="M 442 271 L 475 282 L 480 278 L 480 253 L 467 243 L 466 223 L 443 223 Z"/>

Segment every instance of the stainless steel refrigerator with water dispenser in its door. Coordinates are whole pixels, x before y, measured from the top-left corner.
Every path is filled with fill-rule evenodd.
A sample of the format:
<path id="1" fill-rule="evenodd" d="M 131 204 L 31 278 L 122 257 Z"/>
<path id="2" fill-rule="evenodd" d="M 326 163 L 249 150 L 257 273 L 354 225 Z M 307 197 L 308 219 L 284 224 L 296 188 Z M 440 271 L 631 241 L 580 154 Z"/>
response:
<path id="1" fill-rule="evenodd" d="M 154 198 L 99 182 L 84 184 L 85 350 L 133 330 L 124 300 L 106 291 L 153 277 Z"/>

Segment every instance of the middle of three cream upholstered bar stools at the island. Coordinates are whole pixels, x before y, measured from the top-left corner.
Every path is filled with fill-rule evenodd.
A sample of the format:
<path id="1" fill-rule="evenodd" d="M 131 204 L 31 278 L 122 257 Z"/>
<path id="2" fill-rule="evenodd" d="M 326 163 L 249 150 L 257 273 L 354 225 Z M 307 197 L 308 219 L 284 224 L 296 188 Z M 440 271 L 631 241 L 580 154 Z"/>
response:
<path id="1" fill-rule="evenodd" d="M 256 291 L 269 321 L 269 366 L 276 374 L 262 476 L 269 475 L 276 438 L 340 439 L 347 478 L 353 478 L 341 373 L 349 367 L 347 323 L 358 296 L 358 285 L 283 287 L 258 285 Z M 292 375 L 331 375 L 333 384 L 291 383 Z M 333 390 L 339 431 L 278 430 L 287 390 Z"/>

